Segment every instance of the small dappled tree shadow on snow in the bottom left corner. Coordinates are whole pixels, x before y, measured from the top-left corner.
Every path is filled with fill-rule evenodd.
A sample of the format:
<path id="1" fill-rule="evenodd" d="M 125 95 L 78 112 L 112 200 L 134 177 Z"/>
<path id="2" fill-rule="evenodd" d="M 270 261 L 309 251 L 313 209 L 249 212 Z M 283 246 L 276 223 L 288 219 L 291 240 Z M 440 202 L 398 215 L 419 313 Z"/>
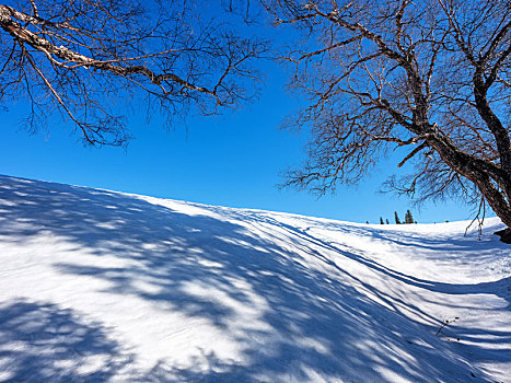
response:
<path id="1" fill-rule="evenodd" d="M 0 305 L 0 381 L 104 382 L 129 364 L 121 345 L 71 309 L 18 300 Z"/>

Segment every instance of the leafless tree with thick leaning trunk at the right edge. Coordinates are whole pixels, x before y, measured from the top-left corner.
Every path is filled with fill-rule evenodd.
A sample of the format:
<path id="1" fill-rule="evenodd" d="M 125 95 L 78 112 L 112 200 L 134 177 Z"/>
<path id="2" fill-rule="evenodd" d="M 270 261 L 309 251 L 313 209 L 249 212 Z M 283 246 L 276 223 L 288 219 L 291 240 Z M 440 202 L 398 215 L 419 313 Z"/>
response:
<path id="1" fill-rule="evenodd" d="M 309 106 L 309 160 L 287 184 L 324 194 L 410 148 L 388 185 L 417 199 L 489 204 L 511 241 L 509 0 L 267 0 L 297 27 L 283 55 Z"/>

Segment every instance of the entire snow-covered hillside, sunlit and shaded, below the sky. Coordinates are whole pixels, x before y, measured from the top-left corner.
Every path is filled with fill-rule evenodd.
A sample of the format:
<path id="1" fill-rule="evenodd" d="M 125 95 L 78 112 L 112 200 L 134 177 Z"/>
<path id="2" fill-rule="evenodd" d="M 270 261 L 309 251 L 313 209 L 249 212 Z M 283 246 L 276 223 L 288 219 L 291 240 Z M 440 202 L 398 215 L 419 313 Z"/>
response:
<path id="1" fill-rule="evenodd" d="M 511 382 L 511 246 L 467 224 L 0 176 L 0 381 Z"/>

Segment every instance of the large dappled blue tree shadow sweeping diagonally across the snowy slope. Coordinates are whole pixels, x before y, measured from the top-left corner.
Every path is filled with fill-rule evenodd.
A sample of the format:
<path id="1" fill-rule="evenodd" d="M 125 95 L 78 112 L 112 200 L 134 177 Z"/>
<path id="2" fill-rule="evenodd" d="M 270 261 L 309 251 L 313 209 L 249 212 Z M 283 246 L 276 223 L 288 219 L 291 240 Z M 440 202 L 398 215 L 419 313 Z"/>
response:
<path id="1" fill-rule="evenodd" d="M 2 205 L 2 200 L 8 204 Z M 2 176 L 0 209 L 0 237 L 9 235 L 23 243 L 37 233 L 51 233 L 77 249 L 86 248 L 97 256 L 95 265 L 73 263 L 69 251 L 66 257 L 56 259 L 55 267 L 77 278 L 107 280 L 108 293 L 132 294 L 162 310 L 205 318 L 242 347 L 242 361 L 222 360 L 214 351 L 186 368 L 162 360 L 139 376 L 141 381 L 259 382 L 272 376 L 272 382 L 350 382 L 360 381 L 361 375 L 365 381 L 379 382 L 486 381 L 484 373 L 456 355 L 452 345 L 404 315 L 393 297 L 365 283 L 368 291 L 378 297 L 370 299 L 350 286 L 356 277 L 317 252 L 317 246 L 332 249 L 332 244 L 287 228 L 294 230 L 294 245 L 316 256 L 339 278 L 309 267 L 293 253 L 293 244 L 282 237 L 252 230 L 251 222 L 260 222 L 262 216 L 241 213 L 241 221 L 227 221 L 214 218 L 221 212 L 214 207 L 198 206 L 198 212 L 183 213 L 133 196 Z M 282 228 L 278 222 L 268 224 Z M 392 278 L 432 291 L 460 289 L 477 293 L 492 289 L 491 283 L 453 287 L 417 280 L 346 249 L 334 249 Z M 129 262 L 125 266 L 103 266 L 104 255 Z M 152 288 L 141 288 L 140 281 Z M 190 283 L 227 299 L 193 293 L 187 289 Z M 247 307 L 260 304 L 257 321 L 264 325 L 246 323 L 231 332 L 243 318 L 228 301 Z M 22 313 L 40 311 L 38 306 L 21 307 Z M 15 310 L 7 307 L 8 312 Z M 8 315 L 1 317 L 7 320 Z M 47 321 L 58 323 L 59 318 L 49 315 Z M 43 328 L 40 332 L 45 334 Z M 104 347 L 102 352 L 118 353 L 115 344 L 97 347 Z M 480 352 L 484 356 L 486 349 L 481 347 Z M 20 353 L 20 360 L 37 359 L 23 349 Z M 501 361 L 511 362 L 509 350 L 501 355 Z M 40 363 L 44 370 L 47 361 L 39 358 L 43 360 L 31 363 Z M 20 370 L 20 363 L 13 365 L 14 371 Z M 105 380 L 113 374 L 115 371 L 106 368 Z"/>

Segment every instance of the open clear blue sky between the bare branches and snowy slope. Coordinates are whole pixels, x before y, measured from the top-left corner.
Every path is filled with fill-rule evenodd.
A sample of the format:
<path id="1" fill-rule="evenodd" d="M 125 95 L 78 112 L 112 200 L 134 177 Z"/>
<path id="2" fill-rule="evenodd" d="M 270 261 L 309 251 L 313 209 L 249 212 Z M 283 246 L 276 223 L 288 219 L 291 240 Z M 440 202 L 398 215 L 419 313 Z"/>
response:
<path id="1" fill-rule="evenodd" d="M 187 127 L 167 131 L 159 116 L 128 114 L 135 139 L 119 148 L 84 148 L 70 125 L 56 117 L 46 132 L 20 129 L 24 106 L 1 113 L 0 173 L 66 184 L 229 207 L 256 208 L 378 223 L 403 219 L 410 201 L 378 190 L 400 158 L 388 159 L 358 187 L 339 187 L 317 199 L 304 192 L 279 190 L 279 172 L 304 159 L 306 132 L 279 128 L 299 101 L 286 93 L 286 76 L 269 66 L 259 100 L 223 116 L 188 118 Z M 413 209 L 419 222 L 463 220 L 471 210 L 456 202 Z"/>

